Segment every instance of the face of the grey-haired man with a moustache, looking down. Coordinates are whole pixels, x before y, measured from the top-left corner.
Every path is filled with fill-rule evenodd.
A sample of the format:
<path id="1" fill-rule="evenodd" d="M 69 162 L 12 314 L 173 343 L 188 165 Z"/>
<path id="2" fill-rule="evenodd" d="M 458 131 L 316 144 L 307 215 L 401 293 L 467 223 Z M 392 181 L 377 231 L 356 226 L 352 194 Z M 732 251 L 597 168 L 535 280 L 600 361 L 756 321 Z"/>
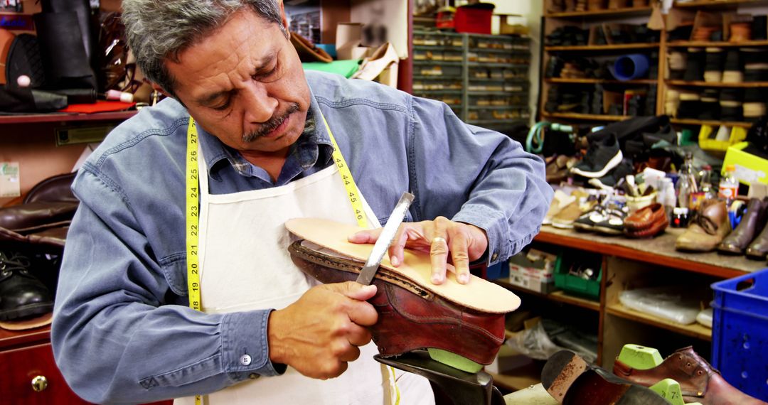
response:
<path id="1" fill-rule="evenodd" d="M 166 65 L 190 115 L 243 156 L 285 151 L 304 130 L 310 90 L 299 56 L 280 26 L 250 10 Z"/>

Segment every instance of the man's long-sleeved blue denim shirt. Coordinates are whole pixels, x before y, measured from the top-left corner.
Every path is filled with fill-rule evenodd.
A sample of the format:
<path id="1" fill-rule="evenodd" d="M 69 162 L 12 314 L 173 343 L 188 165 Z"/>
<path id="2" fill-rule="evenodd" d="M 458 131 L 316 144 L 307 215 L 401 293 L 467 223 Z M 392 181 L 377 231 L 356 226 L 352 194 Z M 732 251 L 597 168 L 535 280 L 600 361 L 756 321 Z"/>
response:
<path id="1" fill-rule="evenodd" d="M 322 111 L 328 120 L 379 222 L 410 190 L 407 220 L 446 216 L 485 229 L 489 262 L 536 235 L 552 190 L 544 164 L 519 143 L 462 123 L 438 101 L 333 74 L 306 78 L 311 116 Z M 85 400 L 148 402 L 280 374 L 267 352 L 269 310 L 187 307 L 188 118 L 172 99 L 141 110 L 109 134 L 74 181 L 81 205 L 61 265 L 51 341 L 62 374 Z M 316 123 L 274 183 L 200 130 L 210 192 L 281 186 L 332 164 L 329 135 Z M 239 361 L 243 348 L 253 359 L 247 366 Z"/>

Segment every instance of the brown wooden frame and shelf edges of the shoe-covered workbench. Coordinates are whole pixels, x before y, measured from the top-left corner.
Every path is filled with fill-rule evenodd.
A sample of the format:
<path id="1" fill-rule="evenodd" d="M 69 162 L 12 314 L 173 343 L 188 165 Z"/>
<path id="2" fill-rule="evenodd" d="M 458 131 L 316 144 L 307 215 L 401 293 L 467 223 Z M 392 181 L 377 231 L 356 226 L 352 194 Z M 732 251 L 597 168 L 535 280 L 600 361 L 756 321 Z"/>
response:
<path id="1" fill-rule="evenodd" d="M 537 249 L 546 252 L 576 249 L 601 255 L 603 277 L 600 301 L 568 295 L 565 291 L 541 294 L 512 285 L 505 279 L 494 282 L 521 295 L 524 302 L 545 300 L 581 308 L 584 311 L 583 316 L 589 313 L 597 314 L 597 364 L 609 370 L 613 367 L 613 360 L 621 351 L 621 347 L 627 343 L 657 347 L 663 353 L 693 344 L 699 354 L 709 357 L 712 341 L 710 328 L 700 324 L 677 324 L 657 318 L 626 308 L 618 300 L 624 289 L 653 286 L 659 279 L 683 283 L 697 281 L 697 285 L 707 285 L 709 282 L 755 272 L 765 267 L 764 262 L 723 256 L 714 252 L 677 252 L 674 250 L 674 240 L 681 232 L 683 229 L 667 229 L 666 233 L 657 238 L 638 240 L 543 228 L 534 239 Z M 515 374 L 524 373 L 522 370 L 515 370 Z"/>

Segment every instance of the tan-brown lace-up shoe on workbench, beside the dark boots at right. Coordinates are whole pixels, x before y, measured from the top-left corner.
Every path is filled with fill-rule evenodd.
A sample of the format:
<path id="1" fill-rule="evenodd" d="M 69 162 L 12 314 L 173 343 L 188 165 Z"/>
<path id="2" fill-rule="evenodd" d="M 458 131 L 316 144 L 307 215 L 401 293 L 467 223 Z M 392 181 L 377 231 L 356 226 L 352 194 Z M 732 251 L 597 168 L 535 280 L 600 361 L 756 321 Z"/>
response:
<path id="1" fill-rule="evenodd" d="M 725 202 L 710 199 L 703 203 L 690 226 L 675 241 L 677 250 L 710 252 L 730 233 Z"/>

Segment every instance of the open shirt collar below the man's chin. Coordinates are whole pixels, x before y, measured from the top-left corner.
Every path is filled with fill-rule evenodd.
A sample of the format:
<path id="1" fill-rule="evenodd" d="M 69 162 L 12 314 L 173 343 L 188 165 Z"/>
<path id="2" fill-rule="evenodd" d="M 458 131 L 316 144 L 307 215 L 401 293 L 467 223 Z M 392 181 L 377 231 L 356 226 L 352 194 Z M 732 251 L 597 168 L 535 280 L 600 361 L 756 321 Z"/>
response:
<path id="1" fill-rule="evenodd" d="M 289 160 L 296 160 L 294 164 L 298 164 L 303 170 L 315 165 L 326 166 L 333 154 L 333 143 L 331 143 L 328 130 L 323 123 L 323 113 L 320 111 L 311 88 L 310 108 L 306 118 L 304 131 L 296 143 L 291 145 L 288 160 L 286 160 L 286 164 L 289 163 Z M 237 173 L 243 176 L 259 176 L 260 173 L 266 173 L 265 170 L 243 159 L 237 150 L 227 147 L 202 127 L 198 126 L 197 131 L 200 133 L 200 148 L 203 151 L 208 175 L 211 178 L 220 179 L 217 173 L 224 166 L 232 166 Z"/>

